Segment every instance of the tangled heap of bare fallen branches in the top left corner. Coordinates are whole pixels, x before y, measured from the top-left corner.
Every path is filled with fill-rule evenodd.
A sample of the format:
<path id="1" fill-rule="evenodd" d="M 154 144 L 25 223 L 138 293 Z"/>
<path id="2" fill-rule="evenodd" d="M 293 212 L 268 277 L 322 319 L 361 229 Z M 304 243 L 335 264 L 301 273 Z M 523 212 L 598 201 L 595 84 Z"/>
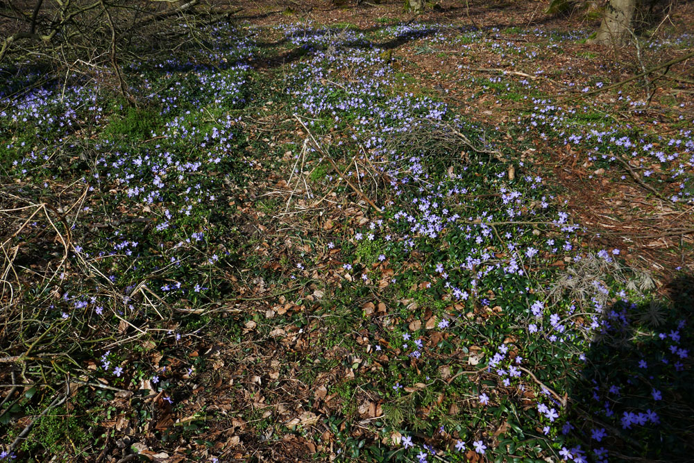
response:
<path id="1" fill-rule="evenodd" d="M 237 11 L 226 0 L 0 0 L 0 64 L 110 76 L 132 101 L 121 71 L 126 62 L 181 42 L 206 47 L 200 31 Z"/>

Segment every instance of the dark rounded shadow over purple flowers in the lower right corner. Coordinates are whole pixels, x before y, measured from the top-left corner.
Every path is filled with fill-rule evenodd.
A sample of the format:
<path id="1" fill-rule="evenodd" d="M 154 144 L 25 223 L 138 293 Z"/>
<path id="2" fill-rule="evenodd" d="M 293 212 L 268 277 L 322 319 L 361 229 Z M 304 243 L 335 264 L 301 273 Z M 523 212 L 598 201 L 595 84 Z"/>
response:
<path id="1" fill-rule="evenodd" d="M 668 289 L 669 302 L 619 302 L 604 313 L 564 426 L 590 449 L 588 461 L 694 461 L 694 275 Z"/>

